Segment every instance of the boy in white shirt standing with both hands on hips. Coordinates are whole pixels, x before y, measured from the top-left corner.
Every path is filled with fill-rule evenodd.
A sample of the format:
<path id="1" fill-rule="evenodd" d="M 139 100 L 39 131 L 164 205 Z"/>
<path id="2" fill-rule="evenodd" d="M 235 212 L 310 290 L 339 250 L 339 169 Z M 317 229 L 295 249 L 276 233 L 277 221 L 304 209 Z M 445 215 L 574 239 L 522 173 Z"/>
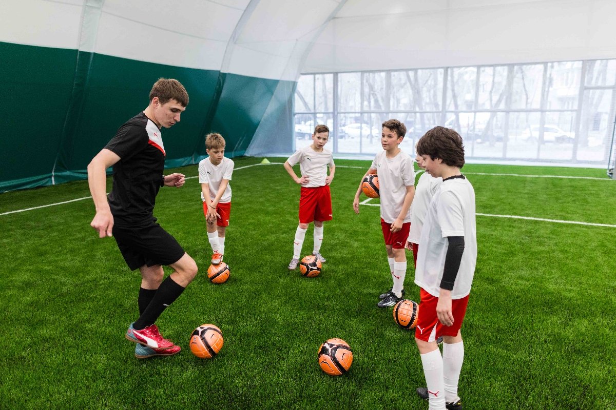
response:
<path id="1" fill-rule="evenodd" d="M 301 255 L 302 245 L 308 224 L 314 221 L 314 247 L 312 254 L 321 263 L 325 263 L 325 258 L 321 254 L 321 244 L 323 242 L 323 222 L 331 221 L 331 193 L 330 184 L 334 179 L 336 166 L 331 151 L 323 148 L 330 136 L 330 128 L 327 125 L 317 125 L 312 134 L 312 144 L 302 149 L 298 149 L 285 162 L 285 170 L 289 173 L 293 181 L 300 184 L 301 197 L 299 198 L 299 225 L 295 231 L 293 240 L 293 258 L 289 263 L 289 270 L 298 267 L 299 256 Z M 301 176 L 298 177 L 293 171 L 293 165 L 298 164 Z M 330 175 L 327 175 L 327 167 L 330 167 Z"/>

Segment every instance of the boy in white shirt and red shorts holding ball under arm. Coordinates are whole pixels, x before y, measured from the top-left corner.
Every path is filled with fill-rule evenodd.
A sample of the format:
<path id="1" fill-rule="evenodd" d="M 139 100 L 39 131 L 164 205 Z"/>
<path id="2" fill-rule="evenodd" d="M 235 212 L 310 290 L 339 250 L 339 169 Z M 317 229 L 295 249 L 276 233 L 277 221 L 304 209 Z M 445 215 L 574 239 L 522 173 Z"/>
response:
<path id="1" fill-rule="evenodd" d="M 381 230 L 385 239 L 387 261 L 393 280 L 391 290 L 379 296 L 376 306 L 394 306 L 402 299 L 404 278 L 407 274 L 407 255 L 404 252 L 411 224 L 409 208 L 415 195 L 415 170 L 413 159 L 399 148 L 407 127 L 396 119 L 383 122 L 381 146 L 368 171 L 363 175 L 377 174 L 381 199 Z M 359 214 L 359 195 L 362 182 L 355 193 L 353 209 Z"/>

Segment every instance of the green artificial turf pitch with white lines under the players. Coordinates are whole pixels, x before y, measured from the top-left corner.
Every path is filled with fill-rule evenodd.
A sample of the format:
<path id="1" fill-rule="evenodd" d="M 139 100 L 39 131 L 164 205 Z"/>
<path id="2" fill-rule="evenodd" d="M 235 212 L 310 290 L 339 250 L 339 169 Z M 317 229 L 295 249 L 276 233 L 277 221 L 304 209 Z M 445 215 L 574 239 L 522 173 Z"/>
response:
<path id="1" fill-rule="evenodd" d="M 158 321 L 184 349 L 169 358 L 132 356 L 124 331 L 137 316 L 139 274 L 128 271 L 113 239 L 100 240 L 89 227 L 91 199 L 0 215 L 0 408 L 426 409 L 415 396 L 424 380 L 413 333 L 394 324 L 391 308 L 375 306 L 391 286 L 379 209 L 352 210 L 370 162 L 336 164 L 334 219 L 322 248 L 328 262 L 317 278 L 286 269 L 299 187 L 281 165 L 233 174 L 225 252 L 232 275 L 223 285 L 205 275 L 211 251 L 198 179 L 161 189 L 155 215 L 201 270 Z M 196 166 L 179 171 L 197 175 Z M 607 178 L 476 174 L 602 178 L 602 170 L 463 171 L 478 213 L 616 224 L 616 183 Z M 8 192 L 0 213 L 88 195 L 84 181 Z M 615 240 L 614 227 L 477 216 L 477 270 L 462 329 L 464 408 L 613 408 Z M 312 228 L 304 254 L 310 246 Z M 409 266 L 406 296 L 417 300 Z M 190 333 L 203 323 L 224 334 L 213 360 L 188 350 Z M 330 337 L 354 351 L 346 376 L 318 368 L 317 349 Z"/>

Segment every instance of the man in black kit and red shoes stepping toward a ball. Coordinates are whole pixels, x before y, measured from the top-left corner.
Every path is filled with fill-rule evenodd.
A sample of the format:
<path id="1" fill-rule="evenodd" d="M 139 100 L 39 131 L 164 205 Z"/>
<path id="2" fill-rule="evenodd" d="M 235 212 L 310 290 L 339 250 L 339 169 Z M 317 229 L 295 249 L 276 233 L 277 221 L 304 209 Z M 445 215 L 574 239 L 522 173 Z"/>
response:
<path id="1" fill-rule="evenodd" d="M 115 137 L 87 166 L 96 215 L 90 224 L 99 237 L 115 237 L 128 267 L 141 272 L 139 318 L 126 331 L 136 342 L 135 356 L 170 356 L 180 347 L 161 336 L 155 321 L 197 275 L 197 264 L 153 215 L 161 186 L 181 187 L 184 175 L 163 175 L 161 129 L 180 120 L 188 93 L 175 79 L 159 79 L 150 91 L 148 107 L 118 129 Z M 105 170 L 113 166 L 113 187 L 107 197 Z M 163 280 L 163 265 L 173 269 Z"/>

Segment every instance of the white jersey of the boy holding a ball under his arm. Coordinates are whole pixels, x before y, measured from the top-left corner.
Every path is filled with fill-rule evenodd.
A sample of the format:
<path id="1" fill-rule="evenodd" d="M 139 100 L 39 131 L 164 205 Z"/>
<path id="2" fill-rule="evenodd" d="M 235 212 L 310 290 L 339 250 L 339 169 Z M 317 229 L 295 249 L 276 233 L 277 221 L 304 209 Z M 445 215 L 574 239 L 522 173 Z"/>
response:
<path id="1" fill-rule="evenodd" d="M 381 218 L 388 224 L 394 223 L 402 211 L 407 186 L 415 185 L 413 159 L 406 152 L 388 159 L 387 152 L 376 154 L 370 168 L 379 176 L 379 197 L 381 199 Z M 410 209 L 404 217 L 404 223 L 411 221 Z"/>

